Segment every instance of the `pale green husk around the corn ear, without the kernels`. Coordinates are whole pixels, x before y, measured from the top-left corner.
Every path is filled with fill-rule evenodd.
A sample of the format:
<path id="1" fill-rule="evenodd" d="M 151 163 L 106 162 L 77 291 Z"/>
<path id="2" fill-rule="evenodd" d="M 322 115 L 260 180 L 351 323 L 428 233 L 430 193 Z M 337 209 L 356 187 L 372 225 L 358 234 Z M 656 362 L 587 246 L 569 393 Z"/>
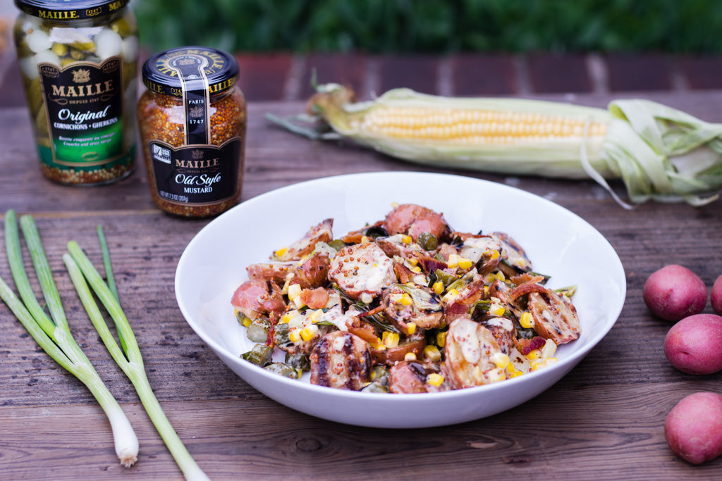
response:
<path id="1" fill-rule="evenodd" d="M 438 97 L 393 89 L 374 100 L 355 102 L 339 84 L 323 84 L 308 112 L 269 120 L 316 139 L 348 138 L 398 159 L 419 164 L 511 175 L 591 178 L 625 208 L 648 200 L 686 201 L 701 206 L 722 190 L 722 124 L 707 123 L 648 100 L 616 100 L 608 109 L 563 102 L 502 98 Z M 430 107 L 562 115 L 606 124 L 604 136 L 519 139 L 513 144 L 460 144 L 448 140 L 396 138 L 362 128 L 374 109 Z M 607 180 L 621 179 L 627 203 Z"/>

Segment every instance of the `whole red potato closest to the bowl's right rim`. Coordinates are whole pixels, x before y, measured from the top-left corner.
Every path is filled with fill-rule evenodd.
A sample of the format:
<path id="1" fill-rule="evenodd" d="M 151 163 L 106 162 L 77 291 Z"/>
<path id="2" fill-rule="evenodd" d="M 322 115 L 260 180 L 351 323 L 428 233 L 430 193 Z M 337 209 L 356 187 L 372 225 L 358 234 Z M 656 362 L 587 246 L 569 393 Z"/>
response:
<path id="1" fill-rule="evenodd" d="M 707 286 L 684 266 L 665 265 L 644 283 L 643 298 L 652 314 L 677 322 L 705 309 Z"/>

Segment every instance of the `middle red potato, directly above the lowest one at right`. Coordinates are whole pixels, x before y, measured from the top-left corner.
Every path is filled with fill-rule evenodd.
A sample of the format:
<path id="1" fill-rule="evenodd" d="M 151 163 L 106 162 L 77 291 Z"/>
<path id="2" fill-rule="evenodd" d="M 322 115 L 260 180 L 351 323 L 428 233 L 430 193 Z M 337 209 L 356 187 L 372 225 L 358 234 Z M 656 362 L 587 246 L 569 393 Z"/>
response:
<path id="1" fill-rule="evenodd" d="M 677 322 L 664 337 L 664 355 L 687 374 L 722 370 L 722 317 L 696 314 Z"/>

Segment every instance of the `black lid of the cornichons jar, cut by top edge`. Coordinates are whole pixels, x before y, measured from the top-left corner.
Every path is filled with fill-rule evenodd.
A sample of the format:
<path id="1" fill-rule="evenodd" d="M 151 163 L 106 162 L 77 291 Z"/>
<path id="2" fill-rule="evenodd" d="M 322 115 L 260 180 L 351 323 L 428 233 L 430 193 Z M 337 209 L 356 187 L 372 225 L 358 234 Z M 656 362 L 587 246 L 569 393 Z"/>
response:
<path id="1" fill-rule="evenodd" d="M 130 0 L 15 0 L 15 6 L 33 17 L 53 22 L 103 17 L 129 4 Z"/>

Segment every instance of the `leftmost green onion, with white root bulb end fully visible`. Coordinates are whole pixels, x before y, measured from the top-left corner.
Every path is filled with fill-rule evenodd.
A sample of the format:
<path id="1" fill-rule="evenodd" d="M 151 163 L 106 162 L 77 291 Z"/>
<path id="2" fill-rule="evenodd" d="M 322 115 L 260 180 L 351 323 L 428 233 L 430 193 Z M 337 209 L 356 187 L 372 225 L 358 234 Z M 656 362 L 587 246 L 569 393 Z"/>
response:
<path id="1" fill-rule="evenodd" d="M 32 292 L 22 260 L 17 219 L 12 210 L 5 214 L 5 244 L 10 270 L 22 301 L 15 296 L 2 278 L 0 278 L 0 297 L 35 339 L 35 342 L 45 350 L 45 353 L 48 353 L 48 356 L 51 356 L 60 366 L 76 376 L 90 389 L 92 395 L 100 403 L 100 407 L 103 408 L 105 415 L 108 416 L 110 427 L 113 430 L 116 454 L 121 460 L 121 464 L 124 467 L 130 467 L 137 460 L 138 438 L 113 394 L 110 394 L 87 356 L 73 339 L 32 218 L 23 216 L 21 224 L 23 234 L 25 234 L 26 240 L 29 240 L 27 242 L 28 249 L 45 295 L 45 301 L 56 322 L 53 323 L 43 312 L 43 308 Z"/>

